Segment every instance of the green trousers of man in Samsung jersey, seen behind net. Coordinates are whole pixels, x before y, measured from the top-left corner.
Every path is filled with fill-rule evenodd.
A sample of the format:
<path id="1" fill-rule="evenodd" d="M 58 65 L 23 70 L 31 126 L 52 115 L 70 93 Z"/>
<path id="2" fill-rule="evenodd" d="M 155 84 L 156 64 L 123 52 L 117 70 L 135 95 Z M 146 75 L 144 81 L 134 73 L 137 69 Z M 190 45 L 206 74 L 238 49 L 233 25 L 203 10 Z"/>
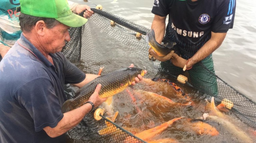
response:
<path id="1" fill-rule="evenodd" d="M 199 91 L 211 96 L 218 94 L 217 78 L 215 76 L 212 56 L 193 65 L 192 69 L 185 72 L 182 68 L 174 66 L 169 60 L 161 62 L 161 68 L 168 74 L 176 77 L 180 74 L 187 76 L 188 83 Z"/>

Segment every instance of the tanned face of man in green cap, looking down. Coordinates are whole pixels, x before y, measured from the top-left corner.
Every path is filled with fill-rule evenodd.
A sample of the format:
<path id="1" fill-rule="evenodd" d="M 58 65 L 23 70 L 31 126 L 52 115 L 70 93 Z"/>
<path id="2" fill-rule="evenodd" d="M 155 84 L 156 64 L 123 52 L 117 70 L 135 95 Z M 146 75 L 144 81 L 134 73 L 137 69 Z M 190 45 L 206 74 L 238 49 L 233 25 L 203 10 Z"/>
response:
<path id="1" fill-rule="evenodd" d="M 70 41 L 69 28 L 69 26 L 60 23 L 51 29 L 47 29 L 44 48 L 48 53 L 60 52 L 65 46 L 65 41 Z"/>

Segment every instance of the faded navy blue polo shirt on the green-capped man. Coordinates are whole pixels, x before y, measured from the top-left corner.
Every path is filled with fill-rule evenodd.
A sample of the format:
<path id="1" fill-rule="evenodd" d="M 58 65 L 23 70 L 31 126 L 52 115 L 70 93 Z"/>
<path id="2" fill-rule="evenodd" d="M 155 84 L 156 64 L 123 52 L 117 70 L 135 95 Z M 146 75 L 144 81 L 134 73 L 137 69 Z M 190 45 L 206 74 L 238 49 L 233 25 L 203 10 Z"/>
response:
<path id="1" fill-rule="evenodd" d="M 21 34 L 0 62 L 0 142 L 57 143 L 44 127 L 56 127 L 63 118 L 64 84 L 76 84 L 85 74 L 61 52 L 50 54 L 52 65 Z"/>

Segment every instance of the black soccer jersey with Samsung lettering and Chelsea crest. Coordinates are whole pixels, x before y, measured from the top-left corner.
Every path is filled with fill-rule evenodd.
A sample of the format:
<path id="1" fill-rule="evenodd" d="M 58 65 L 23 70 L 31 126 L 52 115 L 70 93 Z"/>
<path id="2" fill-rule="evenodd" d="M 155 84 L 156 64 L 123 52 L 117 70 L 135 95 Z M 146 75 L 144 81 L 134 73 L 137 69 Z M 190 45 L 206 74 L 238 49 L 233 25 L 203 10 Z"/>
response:
<path id="1" fill-rule="evenodd" d="M 233 28 L 236 0 L 155 0 L 152 13 L 169 15 L 165 41 L 196 53 L 214 33 Z M 188 58 L 190 58 L 189 56 Z"/>

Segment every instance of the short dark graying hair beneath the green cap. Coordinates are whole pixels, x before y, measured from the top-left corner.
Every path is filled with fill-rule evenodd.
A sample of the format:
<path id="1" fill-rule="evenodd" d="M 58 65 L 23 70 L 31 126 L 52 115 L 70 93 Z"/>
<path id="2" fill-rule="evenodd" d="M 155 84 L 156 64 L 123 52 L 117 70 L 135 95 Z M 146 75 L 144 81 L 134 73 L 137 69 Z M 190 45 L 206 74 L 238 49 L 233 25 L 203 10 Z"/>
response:
<path id="1" fill-rule="evenodd" d="M 35 17 L 31 15 L 26 15 L 23 13 L 20 13 L 19 20 L 20 20 L 20 29 L 22 32 L 24 31 L 30 32 L 33 29 L 33 27 L 36 25 L 36 23 L 40 20 L 43 20 L 46 24 L 46 27 L 49 29 L 60 24 L 60 22 L 58 22 L 53 18 Z"/>

